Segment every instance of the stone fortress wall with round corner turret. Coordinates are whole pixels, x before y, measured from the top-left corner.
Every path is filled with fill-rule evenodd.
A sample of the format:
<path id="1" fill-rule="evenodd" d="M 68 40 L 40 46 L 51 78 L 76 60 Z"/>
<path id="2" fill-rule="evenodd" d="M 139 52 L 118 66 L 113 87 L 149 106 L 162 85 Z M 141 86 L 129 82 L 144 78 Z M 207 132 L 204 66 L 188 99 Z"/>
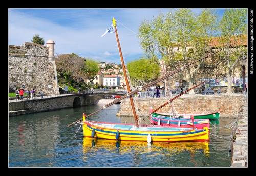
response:
<path id="1" fill-rule="evenodd" d="M 29 42 L 9 45 L 9 92 L 24 86 L 24 90 L 35 89 L 36 93 L 59 94 L 54 45 L 53 40 L 46 46 Z"/>

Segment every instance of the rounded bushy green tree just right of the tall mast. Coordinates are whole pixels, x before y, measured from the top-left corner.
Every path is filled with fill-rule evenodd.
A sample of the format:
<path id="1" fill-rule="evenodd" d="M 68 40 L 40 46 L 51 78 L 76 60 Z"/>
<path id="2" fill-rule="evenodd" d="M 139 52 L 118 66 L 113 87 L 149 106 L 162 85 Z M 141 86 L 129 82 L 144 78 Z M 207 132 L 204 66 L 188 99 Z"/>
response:
<path id="1" fill-rule="evenodd" d="M 137 86 L 144 86 L 151 83 L 160 76 L 160 67 L 157 63 L 152 63 L 150 58 L 140 58 L 127 63 L 130 80 Z"/>

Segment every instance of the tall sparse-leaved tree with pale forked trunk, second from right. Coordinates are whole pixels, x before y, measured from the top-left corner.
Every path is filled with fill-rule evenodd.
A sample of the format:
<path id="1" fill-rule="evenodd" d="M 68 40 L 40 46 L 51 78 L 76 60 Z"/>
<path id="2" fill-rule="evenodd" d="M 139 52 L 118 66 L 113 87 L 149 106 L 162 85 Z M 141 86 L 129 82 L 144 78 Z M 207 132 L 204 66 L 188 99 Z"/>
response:
<path id="1" fill-rule="evenodd" d="M 184 64 L 196 61 L 212 52 L 209 45 L 217 29 L 218 15 L 216 14 L 215 10 L 202 9 L 198 15 L 194 16 L 194 14 L 192 14 L 190 19 L 191 21 L 189 22 L 188 27 L 190 29 L 188 44 L 193 43 L 193 48 L 182 49 Z M 202 65 L 211 64 L 211 67 L 213 67 L 214 65 L 218 65 L 218 63 L 219 62 L 213 62 L 210 57 L 196 63 L 194 67 L 195 69 L 190 69 L 190 67 L 187 67 L 185 69 L 185 80 L 189 83 L 189 87 L 194 86 L 196 73 L 200 70 L 200 68 L 202 68 Z M 194 89 L 190 90 L 189 94 L 195 94 Z"/>

